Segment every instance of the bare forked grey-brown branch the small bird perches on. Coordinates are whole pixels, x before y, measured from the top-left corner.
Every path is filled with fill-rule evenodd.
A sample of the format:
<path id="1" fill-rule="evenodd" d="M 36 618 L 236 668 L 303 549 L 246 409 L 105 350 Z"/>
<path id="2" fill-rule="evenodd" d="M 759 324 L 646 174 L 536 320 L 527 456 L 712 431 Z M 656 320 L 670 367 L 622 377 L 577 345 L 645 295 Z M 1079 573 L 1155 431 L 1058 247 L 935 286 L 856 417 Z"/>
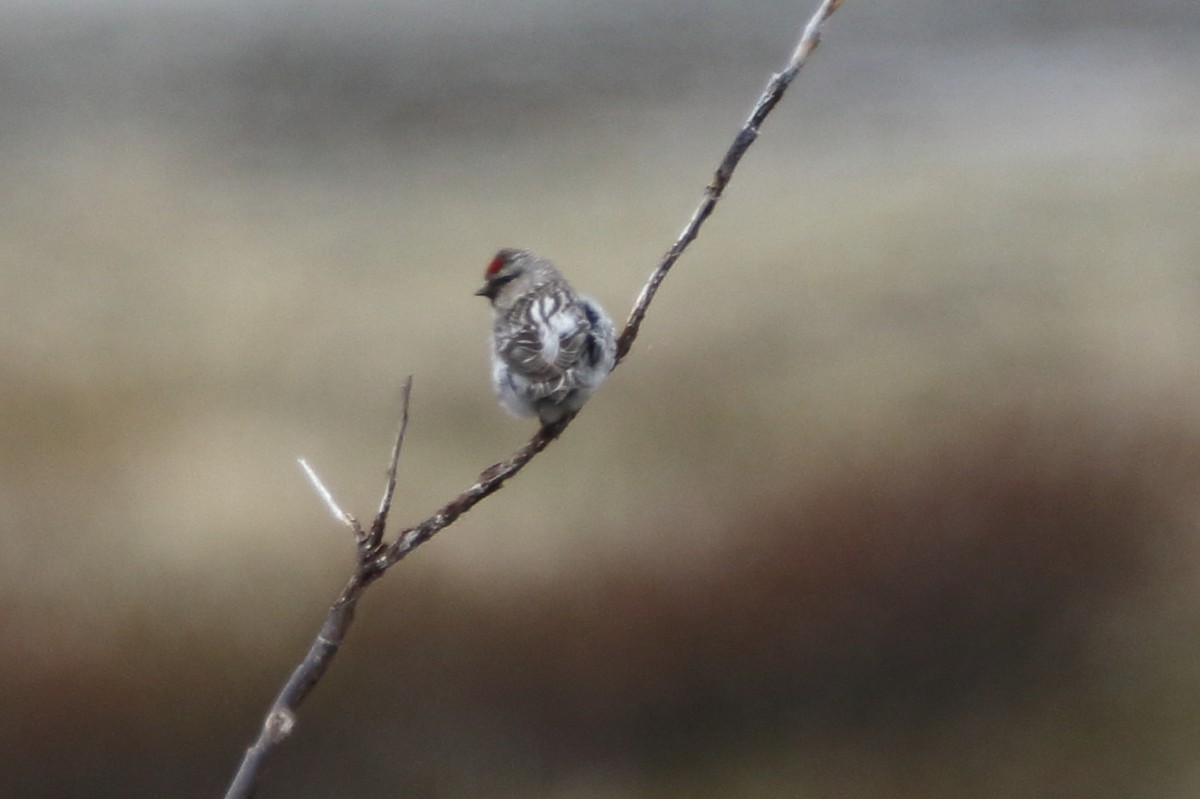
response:
<path id="1" fill-rule="evenodd" d="M 646 282 L 637 301 L 634 304 L 629 320 L 625 323 L 625 328 L 622 330 L 620 337 L 617 340 L 617 364 L 620 364 L 625 355 L 629 354 L 630 348 L 634 346 L 634 341 L 637 338 L 637 332 L 641 329 L 642 320 L 646 318 L 646 312 L 649 308 L 650 302 L 654 300 L 654 295 L 662 284 L 662 281 L 666 278 L 667 272 L 688 248 L 688 246 L 696 239 L 701 226 L 703 226 L 704 221 L 712 215 L 713 209 L 716 206 L 718 200 L 720 200 L 726 185 L 728 185 L 730 179 L 733 176 L 733 170 L 742 161 L 742 156 L 745 155 L 746 150 L 750 149 L 750 145 L 758 138 L 758 128 L 763 120 L 766 120 L 767 115 L 775 108 L 780 98 L 782 98 L 784 91 L 796 78 L 800 67 L 804 66 L 809 55 L 811 55 L 817 48 L 821 42 L 821 26 L 840 5 L 841 0 L 823 0 L 821 2 L 816 12 L 804 26 L 804 32 L 800 35 L 799 42 L 792 52 L 792 56 L 788 60 L 787 66 L 778 74 L 772 76 L 767 88 L 755 103 L 749 119 L 745 124 L 743 124 L 742 128 L 733 138 L 733 143 L 730 145 L 730 149 L 721 158 L 721 163 L 716 168 L 713 181 L 704 190 L 700 205 L 691 215 L 688 224 L 684 226 L 679 238 L 676 239 L 676 242 L 662 257 L 654 271 L 650 272 L 649 280 Z M 484 469 L 469 488 L 443 505 L 436 513 L 422 521 L 420 524 L 402 530 L 391 543 L 385 543 L 383 541 L 383 536 L 388 523 L 388 513 L 391 509 L 391 499 L 396 489 L 396 468 L 400 459 L 400 450 L 404 440 L 404 432 L 408 428 L 408 403 L 410 394 L 412 378 L 408 378 L 404 382 L 402 395 L 403 410 L 401 414 L 400 429 L 396 433 L 396 441 L 391 451 L 386 487 L 384 488 L 383 499 L 379 503 L 379 512 L 376 516 L 374 522 L 371 524 L 371 531 L 368 534 L 364 535 L 362 528 L 359 525 L 358 521 L 338 506 L 332 494 L 328 488 L 325 488 L 324 483 L 322 483 L 320 479 L 308 467 L 308 464 L 304 461 L 300 462 L 305 471 L 308 474 L 308 479 L 316 487 L 317 493 L 329 506 L 334 516 L 355 531 L 355 536 L 359 541 L 359 557 L 354 573 L 342 588 L 342 593 L 338 595 L 337 601 L 335 601 L 334 606 L 330 608 L 329 614 L 325 618 L 325 623 L 322 625 L 320 632 L 308 648 L 307 655 L 305 655 L 304 661 L 292 673 L 292 677 L 288 679 L 287 684 L 284 684 L 280 695 L 271 704 L 271 708 L 266 714 L 266 719 L 263 722 L 263 728 L 259 732 L 258 739 L 250 746 L 250 749 L 246 750 L 241 765 L 234 775 L 234 780 L 226 793 L 226 799 L 245 799 L 251 795 L 254 783 L 258 780 L 258 771 L 262 768 L 266 755 L 292 733 L 296 722 L 296 708 L 305 699 L 308 692 L 312 691 L 313 686 L 325 673 L 325 669 L 329 667 L 334 655 L 337 654 L 338 648 L 346 638 L 346 633 L 354 620 L 354 608 L 356 607 L 359 599 L 362 596 L 362 591 L 365 591 L 371 583 L 383 576 L 389 567 L 402 560 L 413 549 L 428 541 L 438 531 L 445 529 L 450 524 L 454 524 L 460 516 L 469 511 L 485 498 L 499 491 L 504 486 L 505 481 L 521 471 L 521 469 L 523 469 L 526 464 L 534 458 L 534 456 L 545 450 L 551 441 L 562 435 L 563 431 L 565 431 L 574 420 L 574 416 L 569 415 L 553 425 L 542 427 L 506 461 L 502 461 L 488 467 L 487 469 Z"/>

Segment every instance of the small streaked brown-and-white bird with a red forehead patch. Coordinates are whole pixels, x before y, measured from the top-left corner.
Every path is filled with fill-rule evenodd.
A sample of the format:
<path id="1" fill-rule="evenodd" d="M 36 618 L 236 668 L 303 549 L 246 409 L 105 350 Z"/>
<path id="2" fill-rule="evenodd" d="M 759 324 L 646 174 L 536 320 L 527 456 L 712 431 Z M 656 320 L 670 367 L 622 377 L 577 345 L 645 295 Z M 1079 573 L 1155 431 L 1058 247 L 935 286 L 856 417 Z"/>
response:
<path id="1" fill-rule="evenodd" d="M 612 320 L 545 258 L 499 251 L 475 294 L 492 301 L 492 388 L 510 413 L 556 422 L 612 371 Z"/>

